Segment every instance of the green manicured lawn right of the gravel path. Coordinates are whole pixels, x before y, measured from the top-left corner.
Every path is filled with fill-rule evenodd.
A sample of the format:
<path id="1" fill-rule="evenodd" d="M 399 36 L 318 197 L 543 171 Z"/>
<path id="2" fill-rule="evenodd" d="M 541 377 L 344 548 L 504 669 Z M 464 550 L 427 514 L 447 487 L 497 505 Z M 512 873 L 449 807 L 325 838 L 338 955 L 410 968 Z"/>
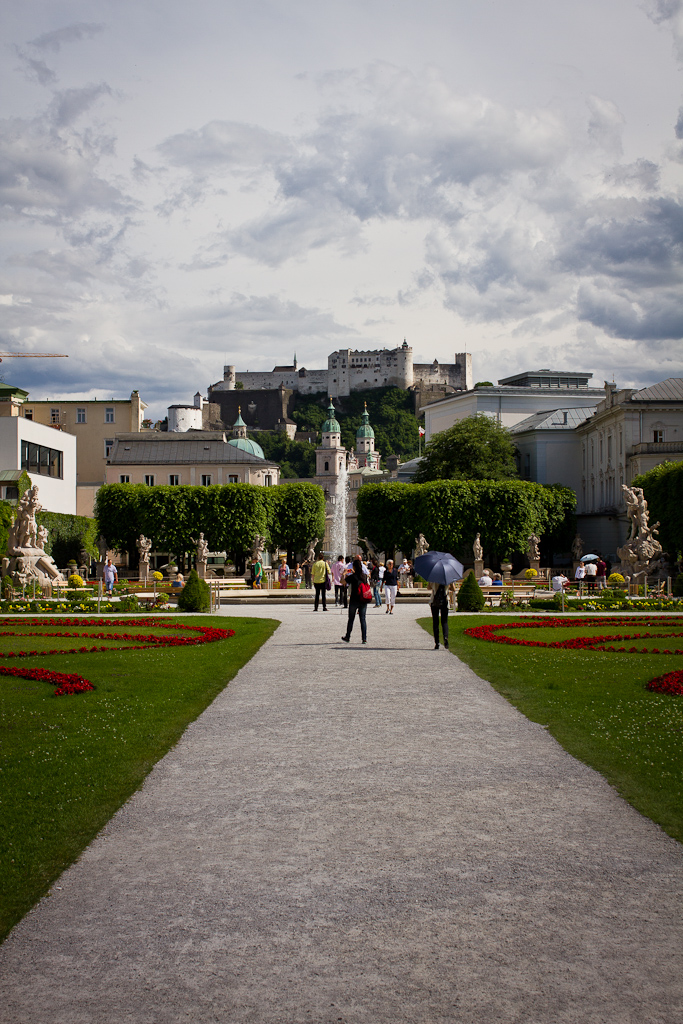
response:
<path id="1" fill-rule="evenodd" d="M 496 618 L 497 624 L 505 622 L 528 623 L 528 617 Z M 431 620 L 420 623 L 431 633 Z M 482 625 L 493 625 L 492 616 L 451 615 L 453 653 L 527 718 L 546 726 L 569 754 L 601 772 L 642 814 L 683 842 L 683 696 L 645 689 L 650 679 L 683 669 L 683 656 L 508 646 L 464 635 L 466 628 Z M 656 626 L 649 631 L 672 632 Z M 677 631 L 683 633 L 683 617 Z M 566 620 L 552 636 L 547 628 L 509 635 L 549 642 L 629 632 L 626 626 L 591 631 Z M 683 637 L 614 644 L 623 645 L 683 648 Z"/>

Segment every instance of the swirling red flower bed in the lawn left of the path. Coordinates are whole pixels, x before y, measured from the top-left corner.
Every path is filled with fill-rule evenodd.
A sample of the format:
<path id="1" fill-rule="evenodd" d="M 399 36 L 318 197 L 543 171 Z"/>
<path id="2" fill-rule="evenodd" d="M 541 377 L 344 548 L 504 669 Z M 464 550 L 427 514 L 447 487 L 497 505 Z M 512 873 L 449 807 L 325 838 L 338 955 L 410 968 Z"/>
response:
<path id="1" fill-rule="evenodd" d="M 82 647 L 53 647 L 50 650 L 10 650 L 6 653 L 0 652 L 0 658 L 11 657 L 45 657 L 51 654 L 94 654 L 106 650 L 143 650 L 146 647 L 187 647 L 197 644 L 215 643 L 217 640 L 227 640 L 234 636 L 234 630 L 221 630 L 215 626 L 186 626 L 184 623 L 169 623 L 163 618 L 30 618 L 25 620 L 27 626 L 78 626 L 75 633 L 48 633 L 46 630 L 36 630 L 35 633 L 20 632 L 14 630 L 0 629 L 0 637 L 59 637 L 66 639 L 88 639 L 88 640 L 120 640 L 125 646 L 105 647 L 91 644 Z M 14 625 L 13 620 L 0 620 L 0 626 Z M 84 626 L 135 626 L 135 627 L 157 627 L 165 630 L 174 630 L 176 633 L 190 633 L 194 636 L 157 636 L 155 634 L 130 634 L 130 633 L 83 633 L 81 627 Z M 135 642 L 138 641 L 138 642 Z M 141 641 L 141 643 L 139 642 Z M 63 672 L 49 672 L 45 669 L 5 669 L 0 667 L 0 675 L 20 676 L 24 679 L 37 679 L 41 682 L 56 684 L 55 696 L 65 696 L 72 693 L 84 693 L 86 690 L 94 689 L 83 676 L 69 675 Z"/>

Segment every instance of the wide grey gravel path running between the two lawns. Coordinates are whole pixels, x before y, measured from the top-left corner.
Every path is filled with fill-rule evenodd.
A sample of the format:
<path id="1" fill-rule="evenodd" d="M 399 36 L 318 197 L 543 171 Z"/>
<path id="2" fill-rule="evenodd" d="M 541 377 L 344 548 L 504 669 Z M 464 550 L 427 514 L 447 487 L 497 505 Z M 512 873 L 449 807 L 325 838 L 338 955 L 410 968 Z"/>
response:
<path id="1" fill-rule="evenodd" d="M 268 613 L 0 949 L 3 1024 L 680 1024 L 681 846 L 424 609 L 369 612 L 367 647 Z"/>

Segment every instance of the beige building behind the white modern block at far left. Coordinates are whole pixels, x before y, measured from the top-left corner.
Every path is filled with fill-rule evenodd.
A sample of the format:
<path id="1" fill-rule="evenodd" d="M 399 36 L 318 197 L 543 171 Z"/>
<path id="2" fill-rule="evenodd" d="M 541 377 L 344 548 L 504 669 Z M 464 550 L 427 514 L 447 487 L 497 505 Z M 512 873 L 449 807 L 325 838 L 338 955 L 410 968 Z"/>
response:
<path id="1" fill-rule="evenodd" d="M 76 435 L 78 515 L 91 516 L 95 495 L 105 481 L 106 460 L 114 447 L 116 436 L 122 432 L 140 431 L 146 404 L 137 391 L 130 398 L 109 400 L 82 398 L 61 401 L 41 399 L 32 401 L 28 392 L 17 413 L 34 423 L 42 423 L 56 430 Z"/>

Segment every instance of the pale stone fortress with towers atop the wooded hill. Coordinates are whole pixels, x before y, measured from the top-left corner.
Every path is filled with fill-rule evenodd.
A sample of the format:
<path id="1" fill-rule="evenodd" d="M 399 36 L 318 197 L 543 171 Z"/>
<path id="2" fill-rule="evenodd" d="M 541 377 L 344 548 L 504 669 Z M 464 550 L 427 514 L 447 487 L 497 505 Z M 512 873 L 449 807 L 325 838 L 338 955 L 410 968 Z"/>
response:
<path id="1" fill-rule="evenodd" d="M 430 385 L 467 391 L 472 387 L 472 356 L 456 354 L 455 362 L 413 362 L 413 349 L 403 341 L 397 348 L 359 351 L 340 348 L 328 356 L 327 370 L 306 370 L 298 367 L 296 355 L 290 367 L 272 371 L 236 373 L 234 367 L 223 369 L 223 380 L 210 391 L 232 391 L 241 384 L 245 391 L 271 391 L 280 387 L 300 394 L 325 392 L 333 398 L 375 387 L 399 387 L 407 390 L 415 385 L 428 389 Z"/>

